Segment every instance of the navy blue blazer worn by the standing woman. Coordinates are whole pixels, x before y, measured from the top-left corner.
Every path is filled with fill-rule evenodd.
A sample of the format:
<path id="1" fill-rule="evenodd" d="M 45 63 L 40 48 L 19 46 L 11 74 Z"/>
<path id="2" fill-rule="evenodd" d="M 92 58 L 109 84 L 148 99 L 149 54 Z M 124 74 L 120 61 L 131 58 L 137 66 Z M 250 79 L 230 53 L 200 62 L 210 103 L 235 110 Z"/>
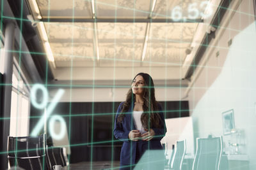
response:
<path id="1" fill-rule="evenodd" d="M 124 102 L 123 102 L 124 103 Z M 129 132 L 132 130 L 136 130 L 136 127 L 134 125 L 134 120 L 132 118 L 132 111 L 133 111 L 133 104 L 129 108 L 129 111 L 125 113 L 124 120 L 122 123 L 117 122 L 117 117 L 122 111 L 122 105 L 121 103 L 118 107 L 118 110 L 116 112 L 116 117 L 115 117 L 115 127 L 113 130 L 113 133 L 115 135 L 116 139 L 119 139 L 120 141 L 124 141 L 122 145 L 122 150 L 120 154 L 120 164 L 122 165 L 130 165 L 130 164 L 135 164 L 135 159 L 136 159 L 136 145 L 138 141 L 131 141 L 128 137 Z M 159 115 L 161 117 L 160 123 L 162 124 L 161 129 L 159 128 L 152 128 L 153 131 L 155 132 L 155 136 L 153 139 L 150 141 L 144 141 L 145 143 L 148 143 L 150 150 L 155 149 L 163 149 L 163 146 L 161 145 L 160 141 L 164 137 L 166 133 L 166 125 L 164 121 L 164 114 L 163 110 L 159 104 Z"/>

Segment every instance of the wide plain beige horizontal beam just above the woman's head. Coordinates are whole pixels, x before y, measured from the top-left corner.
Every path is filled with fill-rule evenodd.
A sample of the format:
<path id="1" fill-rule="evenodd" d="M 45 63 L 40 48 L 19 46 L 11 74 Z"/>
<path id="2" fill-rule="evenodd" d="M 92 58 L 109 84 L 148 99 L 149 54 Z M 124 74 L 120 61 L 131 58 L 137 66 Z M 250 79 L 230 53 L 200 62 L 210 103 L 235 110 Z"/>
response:
<path id="1" fill-rule="evenodd" d="M 72 81 L 81 80 L 129 80 L 137 73 L 149 73 L 153 80 L 181 80 L 181 67 L 74 67 L 72 68 Z M 53 71 L 58 81 L 70 81 L 70 67 L 61 67 Z"/>

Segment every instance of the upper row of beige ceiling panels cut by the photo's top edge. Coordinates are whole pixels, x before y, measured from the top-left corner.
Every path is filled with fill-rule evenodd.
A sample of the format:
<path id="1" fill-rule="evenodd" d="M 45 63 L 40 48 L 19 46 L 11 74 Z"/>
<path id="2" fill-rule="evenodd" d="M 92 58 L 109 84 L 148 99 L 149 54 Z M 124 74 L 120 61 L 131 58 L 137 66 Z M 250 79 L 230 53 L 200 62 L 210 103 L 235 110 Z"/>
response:
<path id="1" fill-rule="evenodd" d="M 170 17 L 172 9 L 180 6 L 182 13 L 188 13 L 188 6 L 202 0 L 157 0 L 152 18 Z M 91 0 L 36 0 L 42 17 L 51 18 L 92 18 Z M 154 0 L 125 1 L 97 0 L 97 18 L 148 18 Z M 199 5 L 198 5 L 199 6 Z"/>

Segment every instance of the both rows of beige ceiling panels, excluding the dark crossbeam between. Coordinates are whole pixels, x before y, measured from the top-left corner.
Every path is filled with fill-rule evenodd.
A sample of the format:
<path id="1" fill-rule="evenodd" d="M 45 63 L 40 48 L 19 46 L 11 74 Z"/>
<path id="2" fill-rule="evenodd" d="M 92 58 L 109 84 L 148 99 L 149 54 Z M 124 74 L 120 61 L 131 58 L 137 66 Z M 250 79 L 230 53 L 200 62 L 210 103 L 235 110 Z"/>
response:
<path id="1" fill-rule="evenodd" d="M 42 18 L 92 18 L 91 1 L 37 0 Z M 170 17 L 172 8 L 179 5 L 188 8 L 198 1 L 156 1 L 152 19 Z M 153 3 L 153 1 L 152 1 Z M 97 18 L 145 18 L 150 16 L 150 1 L 97 1 Z M 166 4 L 167 3 L 167 4 Z M 186 12 L 183 10 L 183 12 Z M 147 36 L 147 22 L 97 22 L 99 60 L 95 54 L 92 22 L 44 22 L 56 67 L 140 67 L 182 66 L 186 49 L 191 45 L 198 23 L 151 23 L 145 59 L 143 44 Z"/>

